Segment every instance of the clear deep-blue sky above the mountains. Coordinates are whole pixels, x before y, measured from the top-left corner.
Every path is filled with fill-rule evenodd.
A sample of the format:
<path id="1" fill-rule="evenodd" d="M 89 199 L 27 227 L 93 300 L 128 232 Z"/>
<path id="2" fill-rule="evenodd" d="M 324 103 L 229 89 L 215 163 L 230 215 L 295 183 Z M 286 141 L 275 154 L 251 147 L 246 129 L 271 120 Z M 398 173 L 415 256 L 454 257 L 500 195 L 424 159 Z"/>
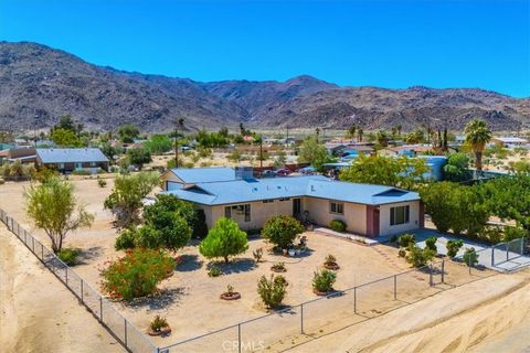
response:
<path id="1" fill-rule="evenodd" d="M 195 81 L 530 96 L 530 0 L 0 0 L 0 40 Z"/>

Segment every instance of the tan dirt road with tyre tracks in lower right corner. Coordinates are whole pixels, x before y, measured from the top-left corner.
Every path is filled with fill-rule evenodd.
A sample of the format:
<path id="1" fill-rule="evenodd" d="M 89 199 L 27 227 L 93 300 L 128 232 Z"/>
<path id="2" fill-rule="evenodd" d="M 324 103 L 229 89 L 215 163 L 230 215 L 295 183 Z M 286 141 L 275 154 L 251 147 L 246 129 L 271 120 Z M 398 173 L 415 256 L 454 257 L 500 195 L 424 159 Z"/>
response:
<path id="1" fill-rule="evenodd" d="M 528 352 L 529 314 L 530 272 L 497 275 L 289 352 Z"/>

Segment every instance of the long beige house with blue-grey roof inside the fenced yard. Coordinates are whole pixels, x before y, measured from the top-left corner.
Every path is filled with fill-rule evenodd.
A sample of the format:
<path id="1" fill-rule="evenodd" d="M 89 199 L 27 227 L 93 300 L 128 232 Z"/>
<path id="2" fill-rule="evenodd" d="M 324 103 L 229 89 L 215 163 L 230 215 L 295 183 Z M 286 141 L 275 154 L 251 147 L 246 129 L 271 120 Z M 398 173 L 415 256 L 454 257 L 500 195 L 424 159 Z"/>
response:
<path id="1" fill-rule="evenodd" d="M 203 210 L 211 228 L 222 216 L 243 229 L 258 229 L 274 215 L 329 226 L 342 220 L 349 232 L 391 235 L 423 227 L 420 195 L 392 186 L 353 184 L 321 175 L 254 179 L 252 169 L 173 169 L 165 192 Z"/>

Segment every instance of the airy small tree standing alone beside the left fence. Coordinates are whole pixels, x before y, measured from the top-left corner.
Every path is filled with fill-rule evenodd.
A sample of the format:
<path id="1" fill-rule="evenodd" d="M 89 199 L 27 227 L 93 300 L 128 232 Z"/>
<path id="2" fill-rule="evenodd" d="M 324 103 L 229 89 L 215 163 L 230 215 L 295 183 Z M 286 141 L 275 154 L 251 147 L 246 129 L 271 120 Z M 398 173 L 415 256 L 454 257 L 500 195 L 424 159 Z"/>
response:
<path id="1" fill-rule="evenodd" d="M 28 216 L 50 237 L 54 253 L 62 249 L 68 232 L 89 227 L 94 222 L 94 215 L 77 205 L 74 186 L 59 178 L 30 186 L 25 201 Z"/>

